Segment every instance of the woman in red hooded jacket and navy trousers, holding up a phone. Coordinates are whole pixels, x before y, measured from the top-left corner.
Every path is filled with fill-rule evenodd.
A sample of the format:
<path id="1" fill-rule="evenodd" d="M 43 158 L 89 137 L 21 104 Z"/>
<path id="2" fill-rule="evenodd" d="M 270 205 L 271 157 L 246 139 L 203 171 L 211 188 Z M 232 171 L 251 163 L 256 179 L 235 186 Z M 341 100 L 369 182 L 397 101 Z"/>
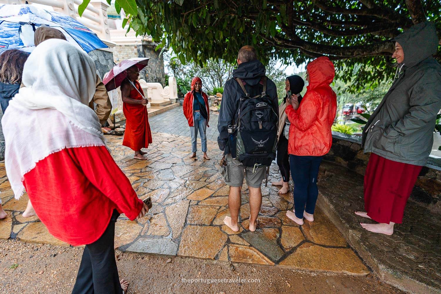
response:
<path id="1" fill-rule="evenodd" d="M 303 217 L 314 221 L 317 201 L 317 176 L 322 157 L 332 145 L 331 126 L 337 110 L 337 97 L 329 86 L 335 75 L 334 65 L 322 56 L 306 66 L 309 85 L 299 104 L 292 95 L 285 112 L 291 122 L 288 153 L 294 182 L 294 210 L 286 215 L 299 225 Z"/>

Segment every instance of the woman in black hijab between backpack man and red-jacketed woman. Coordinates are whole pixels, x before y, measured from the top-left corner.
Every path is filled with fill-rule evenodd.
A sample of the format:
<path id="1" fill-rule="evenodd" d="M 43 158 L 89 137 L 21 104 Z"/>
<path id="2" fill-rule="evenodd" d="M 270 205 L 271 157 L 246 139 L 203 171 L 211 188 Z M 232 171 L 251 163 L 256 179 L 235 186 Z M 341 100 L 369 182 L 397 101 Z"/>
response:
<path id="1" fill-rule="evenodd" d="M 289 97 L 292 94 L 297 95 L 299 102 L 302 99 L 300 92 L 303 90 L 305 82 L 303 78 L 298 75 L 291 75 L 286 78 L 285 90 L 286 95 L 283 98 L 283 103 L 279 106 L 279 130 L 277 132 L 277 138 L 279 138 L 277 145 L 277 165 L 280 168 L 280 174 L 282 179 L 279 182 L 273 182 L 273 186 L 282 186 L 279 190 L 279 194 L 285 194 L 289 192 L 289 155 L 288 155 L 288 134 L 289 134 L 289 120 L 285 113 L 285 108 L 290 104 Z M 287 103 L 288 100 L 288 103 Z"/>

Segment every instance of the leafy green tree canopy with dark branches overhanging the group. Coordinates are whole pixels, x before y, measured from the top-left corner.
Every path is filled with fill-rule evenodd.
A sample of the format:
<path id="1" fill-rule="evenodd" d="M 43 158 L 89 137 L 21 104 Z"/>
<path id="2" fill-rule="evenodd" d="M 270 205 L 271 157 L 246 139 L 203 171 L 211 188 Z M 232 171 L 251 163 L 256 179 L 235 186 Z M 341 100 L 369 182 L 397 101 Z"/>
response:
<path id="1" fill-rule="evenodd" d="M 333 86 L 341 89 L 339 97 L 345 95 L 345 101 L 351 102 L 370 102 L 370 108 L 379 103 L 393 78 L 392 60 L 381 56 L 385 52 L 381 46 L 399 28 L 411 25 L 410 16 L 408 23 L 390 19 L 408 14 L 402 0 L 374 1 L 378 13 L 385 17 L 365 17 L 350 11 L 330 13 L 317 5 L 320 1 L 310 0 L 116 1 L 115 6 L 127 13 L 124 24 L 130 22 L 138 34 L 149 34 L 158 43 L 166 38 L 167 46 L 182 63 L 200 64 L 210 58 L 232 63 L 239 48 L 246 44 L 255 45 L 259 60 L 265 64 L 277 59 L 301 65 L 314 56 L 328 55 L 336 68 L 336 79 L 341 82 Z M 357 10 L 362 6 L 355 0 L 325 2 L 341 9 Z M 425 7 L 430 21 L 439 19 L 440 8 L 441 4 Z M 380 24 L 385 24 L 387 30 L 364 32 L 377 29 Z M 351 30 L 363 33 L 348 36 Z M 276 37 L 282 43 L 275 41 Z M 164 48 L 162 43 L 159 48 Z M 440 51 L 437 56 L 441 56 Z M 379 89 L 381 85 L 386 89 Z"/>

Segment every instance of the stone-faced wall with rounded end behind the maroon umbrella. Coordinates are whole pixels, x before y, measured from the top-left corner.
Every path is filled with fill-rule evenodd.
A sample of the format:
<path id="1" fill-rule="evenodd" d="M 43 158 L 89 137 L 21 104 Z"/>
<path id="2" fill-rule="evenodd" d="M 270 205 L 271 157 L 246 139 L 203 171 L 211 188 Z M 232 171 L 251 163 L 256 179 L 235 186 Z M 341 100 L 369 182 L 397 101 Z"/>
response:
<path id="1" fill-rule="evenodd" d="M 149 65 L 145 67 L 139 75 L 139 79 L 144 79 L 146 82 L 158 82 L 165 85 L 164 59 L 159 56 L 160 50 L 155 51 L 154 45 L 117 45 L 113 48 L 113 60 L 115 63 L 120 63 L 122 60 L 147 57 L 150 58 Z"/>

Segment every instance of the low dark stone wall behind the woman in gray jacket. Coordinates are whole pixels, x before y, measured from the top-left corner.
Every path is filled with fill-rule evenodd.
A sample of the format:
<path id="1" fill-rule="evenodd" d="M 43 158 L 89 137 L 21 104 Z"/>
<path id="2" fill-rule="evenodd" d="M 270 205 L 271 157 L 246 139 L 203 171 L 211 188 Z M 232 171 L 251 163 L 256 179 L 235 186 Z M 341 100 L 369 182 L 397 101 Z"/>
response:
<path id="1" fill-rule="evenodd" d="M 333 145 L 325 160 L 364 175 L 370 153 L 363 153 L 361 138 L 333 132 Z M 411 193 L 411 199 L 430 210 L 441 211 L 441 160 L 430 157 L 422 168 Z"/>

